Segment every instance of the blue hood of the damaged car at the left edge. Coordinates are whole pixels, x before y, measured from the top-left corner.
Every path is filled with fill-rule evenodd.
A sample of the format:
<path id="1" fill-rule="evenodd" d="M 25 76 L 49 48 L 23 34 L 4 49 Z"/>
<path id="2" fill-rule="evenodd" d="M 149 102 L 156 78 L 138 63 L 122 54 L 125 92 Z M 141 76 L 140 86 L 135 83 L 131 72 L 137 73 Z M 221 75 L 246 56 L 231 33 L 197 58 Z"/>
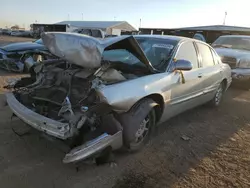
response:
<path id="1" fill-rule="evenodd" d="M 6 52 L 26 51 L 26 50 L 46 50 L 44 45 L 35 42 L 18 42 L 1 47 Z"/>

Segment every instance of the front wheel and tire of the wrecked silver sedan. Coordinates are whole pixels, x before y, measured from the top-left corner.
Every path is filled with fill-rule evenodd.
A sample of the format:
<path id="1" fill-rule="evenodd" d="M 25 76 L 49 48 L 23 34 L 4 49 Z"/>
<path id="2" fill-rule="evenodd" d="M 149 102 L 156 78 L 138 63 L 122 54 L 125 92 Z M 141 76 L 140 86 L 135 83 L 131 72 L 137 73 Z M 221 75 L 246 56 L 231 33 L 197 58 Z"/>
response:
<path id="1" fill-rule="evenodd" d="M 152 99 L 144 99 L 119 118 L 123 126 L 123 141 L 127 150 L 138 151 L 148 142 L 156 124 L 154 107 L 157 105 Z"/>

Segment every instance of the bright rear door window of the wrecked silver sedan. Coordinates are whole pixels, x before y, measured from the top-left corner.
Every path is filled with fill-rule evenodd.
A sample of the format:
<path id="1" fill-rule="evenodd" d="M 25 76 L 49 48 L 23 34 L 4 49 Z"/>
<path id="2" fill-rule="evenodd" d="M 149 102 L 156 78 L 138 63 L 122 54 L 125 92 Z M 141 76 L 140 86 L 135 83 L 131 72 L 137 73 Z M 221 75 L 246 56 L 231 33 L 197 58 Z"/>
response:
<path id="1" fill-rule="evenodd" d="M 198 43 L 198 42 L 197 42 L 197 46 L 201 54 L 202 67 L 214 66 L 214 59 L 213 59 L 210 48 L 207 45 Z"/>

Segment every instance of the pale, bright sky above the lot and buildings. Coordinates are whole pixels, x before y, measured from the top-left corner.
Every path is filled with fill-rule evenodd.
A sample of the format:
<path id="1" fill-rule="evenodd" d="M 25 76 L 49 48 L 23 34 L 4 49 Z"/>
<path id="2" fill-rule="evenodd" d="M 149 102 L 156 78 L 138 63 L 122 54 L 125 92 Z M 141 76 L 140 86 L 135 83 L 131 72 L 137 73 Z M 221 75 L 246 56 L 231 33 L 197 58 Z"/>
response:
<path id="1" fill-rule="evenodd" d="M 11 0 L 1 2 L 0 28 L 64 20 L 128 21 L 138 28 L 219 25 L 250 27 L 250 0 Z"/>

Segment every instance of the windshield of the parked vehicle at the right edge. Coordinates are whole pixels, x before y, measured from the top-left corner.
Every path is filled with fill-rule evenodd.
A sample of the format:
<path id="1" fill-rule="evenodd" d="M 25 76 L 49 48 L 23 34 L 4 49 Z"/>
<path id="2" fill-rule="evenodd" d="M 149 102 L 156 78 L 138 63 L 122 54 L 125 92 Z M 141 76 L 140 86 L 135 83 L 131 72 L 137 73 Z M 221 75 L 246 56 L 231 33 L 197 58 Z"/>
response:
<path id="1" fill-rule="evenodd" d="M 250 37 L 219 37 L 212 46 L 250 50 Z"/>

